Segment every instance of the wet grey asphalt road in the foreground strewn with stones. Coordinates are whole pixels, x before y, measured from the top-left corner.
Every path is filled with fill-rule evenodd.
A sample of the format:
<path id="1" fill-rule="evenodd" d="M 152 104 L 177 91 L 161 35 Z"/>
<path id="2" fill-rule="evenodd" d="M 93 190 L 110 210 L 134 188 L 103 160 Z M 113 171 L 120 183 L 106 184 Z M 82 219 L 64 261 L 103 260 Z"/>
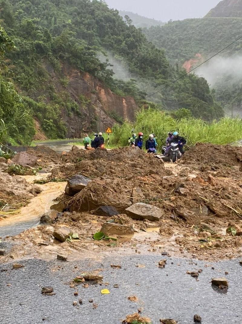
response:
<path id="1" fill-rule="evenodd" d="M 81 323 L 81 324 L 118 324 L 126 315 L 142 308 L 142 315 L 149 316 L 153 324 L 160 318 L 174 318 L 179 324 L 194 323 L 194 314 L 202 317 L 203 324 L 233 324 L 242 322 L 241 290 L 242 267 L 238 260 L 218 263 L 202 261 L 195 264 L 191 260 L 167 258 L 164 269 L 157 267 L 160 256 L 141 256 L 105 258 L 102 262 L 90 259 L 64 262 L 59 260 L 21 261 L 24 268 L 12 269 L 12 263 L 1 265 L 0 295 L 1 323 Z M 172 264 L 172 262 L 174 264 Z M 113 269 L 110 264 L 120 264 L 122 269 Z M 145 268 L 137 268 L 137 264 Z M 177 265 L 179 264 L 179 265 Z M 61 266 L 60 270 L 57 269 Z M 78 269 L 74 266 L 77 265 Z M 215 268 L 212 270 L 212 266 Z M 103 269 L 103 282 L 89 285 L 89 288 L 70 288 L 69 282 L 84 271 Z M 186 274 L 186 271 L 203 269 L 199 281 Z M 52 270 L 51 270 L 52 269 Z M 212 287 L 213 276 L 224 276 L 229 281 L 228 290 Z M 7 286 L 7 284 L 10 284 Z M 119 288 L 114 288 L 119 284 Z M 54 296 L 43 296 L 43 286 L 53 286 Z M 101 295 L 103 288 L 110 290 L 109 295 Z M 79 296 L 73 295 L 74 291 Z M 135 295 L 138 303 L 131 302 L 128 296 Z M 83 300 L 83 304 L 73 306 L 73 301 Z M 93 298 L 98 308 L 89 303 Z"/>

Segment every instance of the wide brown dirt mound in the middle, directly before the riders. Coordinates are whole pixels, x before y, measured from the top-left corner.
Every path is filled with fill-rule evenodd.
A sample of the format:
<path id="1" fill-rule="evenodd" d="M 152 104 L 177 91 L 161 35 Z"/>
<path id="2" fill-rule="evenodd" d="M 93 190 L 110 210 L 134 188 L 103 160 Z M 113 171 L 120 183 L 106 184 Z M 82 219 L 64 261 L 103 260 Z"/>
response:
<path id="1" fill-rule="evenodd" d="M 136 148 L 124 147 L 110 151 L 97 149 L 89 152 L 74 148 L 67 156 L 63 156 L 62 160 L 67 163 L 64 163 L 60 170 L 68 177 L 79 173 L 90 178 L 115 176 L 132 179 L 169 174 L 169 171 L 164 169 L 162 160 Z"/>

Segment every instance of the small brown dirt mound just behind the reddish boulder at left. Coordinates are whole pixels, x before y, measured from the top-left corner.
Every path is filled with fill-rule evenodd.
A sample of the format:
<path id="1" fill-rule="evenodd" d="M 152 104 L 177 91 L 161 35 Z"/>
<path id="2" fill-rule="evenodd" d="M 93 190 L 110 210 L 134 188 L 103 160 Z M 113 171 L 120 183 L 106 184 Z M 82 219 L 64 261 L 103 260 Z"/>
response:
<path id="1" fill-rule="evenodd" d="M 48 165 L 49 162 L 58 163 L 60 161 L 61 155 L 56 153 L 54 150 L 45 145 L 38 145 L 36 147 L 30 147 L 27 153 L 36 156 L 37 162 L 41 166 Z"/>

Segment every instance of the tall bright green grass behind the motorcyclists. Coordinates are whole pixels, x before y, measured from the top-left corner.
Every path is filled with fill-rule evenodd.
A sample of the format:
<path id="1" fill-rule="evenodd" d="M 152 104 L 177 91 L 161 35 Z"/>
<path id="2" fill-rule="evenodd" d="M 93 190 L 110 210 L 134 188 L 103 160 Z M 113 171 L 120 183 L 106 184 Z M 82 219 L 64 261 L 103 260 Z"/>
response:
<path id="1" fill-rule="evenodd" d="M 123 125 L 114 125 L 112 130 L 111 144 L 116 146 L 128 145 L 132 130 L 137 135 L 139 132 L 144 133 L 144 140 L 149 134 L 155 133 L 160 147 L 170 131 L 178 131 L 187 139 L 188 145 L 197 142 L 224 145 L 242 139 L 242 120 L 227 117 L 211 123 L 195 118 L 175 120 L 165 112 L 150 108 L 137 112 L 133 124 L 125 122 Z"/>

